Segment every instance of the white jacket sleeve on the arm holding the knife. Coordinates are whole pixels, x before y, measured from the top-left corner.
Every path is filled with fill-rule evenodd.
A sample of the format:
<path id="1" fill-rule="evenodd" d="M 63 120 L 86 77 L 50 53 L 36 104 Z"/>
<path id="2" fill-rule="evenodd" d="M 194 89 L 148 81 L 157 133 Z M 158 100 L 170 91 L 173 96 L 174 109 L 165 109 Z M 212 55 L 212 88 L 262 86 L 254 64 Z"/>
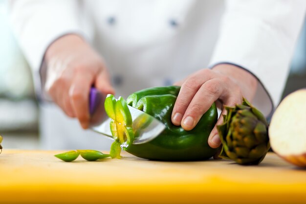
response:
<path id="1" fill-rule="evenodd" d="M 84 21 L 82 1 L 11 0 L 10 21 L 22 51 L 33 70 L 37 92 L 41 92 L 40 67 L 47 47 L 57 38 L 75 33 L 90 38 Z M 86 31 L 85 31 L 86 30 Z"/>

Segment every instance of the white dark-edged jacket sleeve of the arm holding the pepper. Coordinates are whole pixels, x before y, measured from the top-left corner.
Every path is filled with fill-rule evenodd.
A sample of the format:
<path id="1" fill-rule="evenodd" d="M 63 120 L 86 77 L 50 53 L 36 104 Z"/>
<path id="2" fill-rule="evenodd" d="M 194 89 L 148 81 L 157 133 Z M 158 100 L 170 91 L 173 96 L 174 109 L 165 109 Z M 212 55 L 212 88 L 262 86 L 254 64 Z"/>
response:
<path id="1" fill-rule="evenodd" d="M 305 0 L 228 0 L 210 67 L 230 63 L 259 80 L 253 101 L 266 116 L 282 96 Z"/>

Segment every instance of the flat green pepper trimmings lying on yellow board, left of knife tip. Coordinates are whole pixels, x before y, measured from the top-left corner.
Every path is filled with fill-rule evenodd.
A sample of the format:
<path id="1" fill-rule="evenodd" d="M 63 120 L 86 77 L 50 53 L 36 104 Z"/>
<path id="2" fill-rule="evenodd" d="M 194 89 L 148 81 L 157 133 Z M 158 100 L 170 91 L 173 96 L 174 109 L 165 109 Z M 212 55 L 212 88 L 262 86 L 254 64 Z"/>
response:
<path id="1" fill-rule="evenodd" d="M 96 150 L 72 150 L 69 152 L 64 152 L 62 154 L 54 155 L 55 157 L 62 159 L 63 161 L 73 161 L 81 155 L 83 159 L 87 161 L 95 161 L 98 159 L 105 159 L 110 157 L 108 154 L 103 154 L 102 152 Z"/>

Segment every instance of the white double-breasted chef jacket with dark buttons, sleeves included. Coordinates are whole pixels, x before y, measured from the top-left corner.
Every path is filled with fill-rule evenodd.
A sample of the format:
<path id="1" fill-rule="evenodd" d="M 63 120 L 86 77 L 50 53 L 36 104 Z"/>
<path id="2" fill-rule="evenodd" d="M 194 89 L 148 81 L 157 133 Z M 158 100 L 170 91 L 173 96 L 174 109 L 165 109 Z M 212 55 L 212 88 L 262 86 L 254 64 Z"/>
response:
<path id="1" fill-rule="evenodd" d="M 253 101 L 277 105 L 306 11 L 305 0 L 14 0 L 11 21 L 38 92 L 44 52 L 67 33 L 105 59 L 116 95 L 167 86 L 201 69 L 232 63 L 253 73 Z M 41 105 L 45 149 L 108 149 L 56 105 Z"/>

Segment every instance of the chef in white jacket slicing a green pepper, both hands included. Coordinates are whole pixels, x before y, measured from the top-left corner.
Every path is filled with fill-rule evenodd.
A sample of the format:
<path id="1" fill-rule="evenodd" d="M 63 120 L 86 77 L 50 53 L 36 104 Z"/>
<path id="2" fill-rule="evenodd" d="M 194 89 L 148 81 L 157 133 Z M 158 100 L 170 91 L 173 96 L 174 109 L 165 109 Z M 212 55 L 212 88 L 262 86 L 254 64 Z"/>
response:
<path id="1" fill-rule="evenodd" d="M 224 114 L 242 96 L 269 116 L 306 1 L 12 0 L 10 10 L 41 99 L 42 148 L 109 149 L 87 130 L 92 85 L 125 98 L 179 85 L 172 122 L 185 130 L 213 102 Z M 220 145 L 216 128 L 208 143 Z"/>

